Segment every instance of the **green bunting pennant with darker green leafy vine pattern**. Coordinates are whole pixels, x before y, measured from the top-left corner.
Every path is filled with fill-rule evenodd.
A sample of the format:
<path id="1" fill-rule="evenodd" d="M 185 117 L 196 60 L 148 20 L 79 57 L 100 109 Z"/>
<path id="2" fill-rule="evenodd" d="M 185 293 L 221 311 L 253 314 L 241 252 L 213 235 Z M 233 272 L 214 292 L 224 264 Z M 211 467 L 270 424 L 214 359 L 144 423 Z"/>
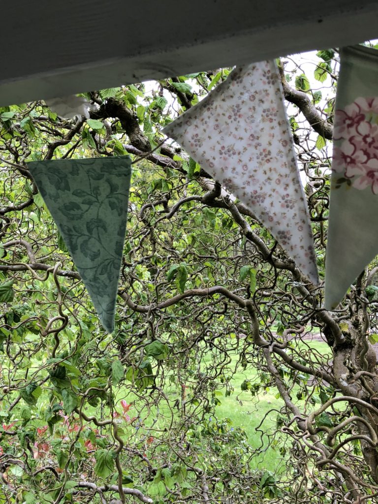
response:
<path id="1" fill-rule="evenodd" d="M 113 332 L 128 213 L 130 158 L 35 161 L 28 167 L 101 324 Z"/>

